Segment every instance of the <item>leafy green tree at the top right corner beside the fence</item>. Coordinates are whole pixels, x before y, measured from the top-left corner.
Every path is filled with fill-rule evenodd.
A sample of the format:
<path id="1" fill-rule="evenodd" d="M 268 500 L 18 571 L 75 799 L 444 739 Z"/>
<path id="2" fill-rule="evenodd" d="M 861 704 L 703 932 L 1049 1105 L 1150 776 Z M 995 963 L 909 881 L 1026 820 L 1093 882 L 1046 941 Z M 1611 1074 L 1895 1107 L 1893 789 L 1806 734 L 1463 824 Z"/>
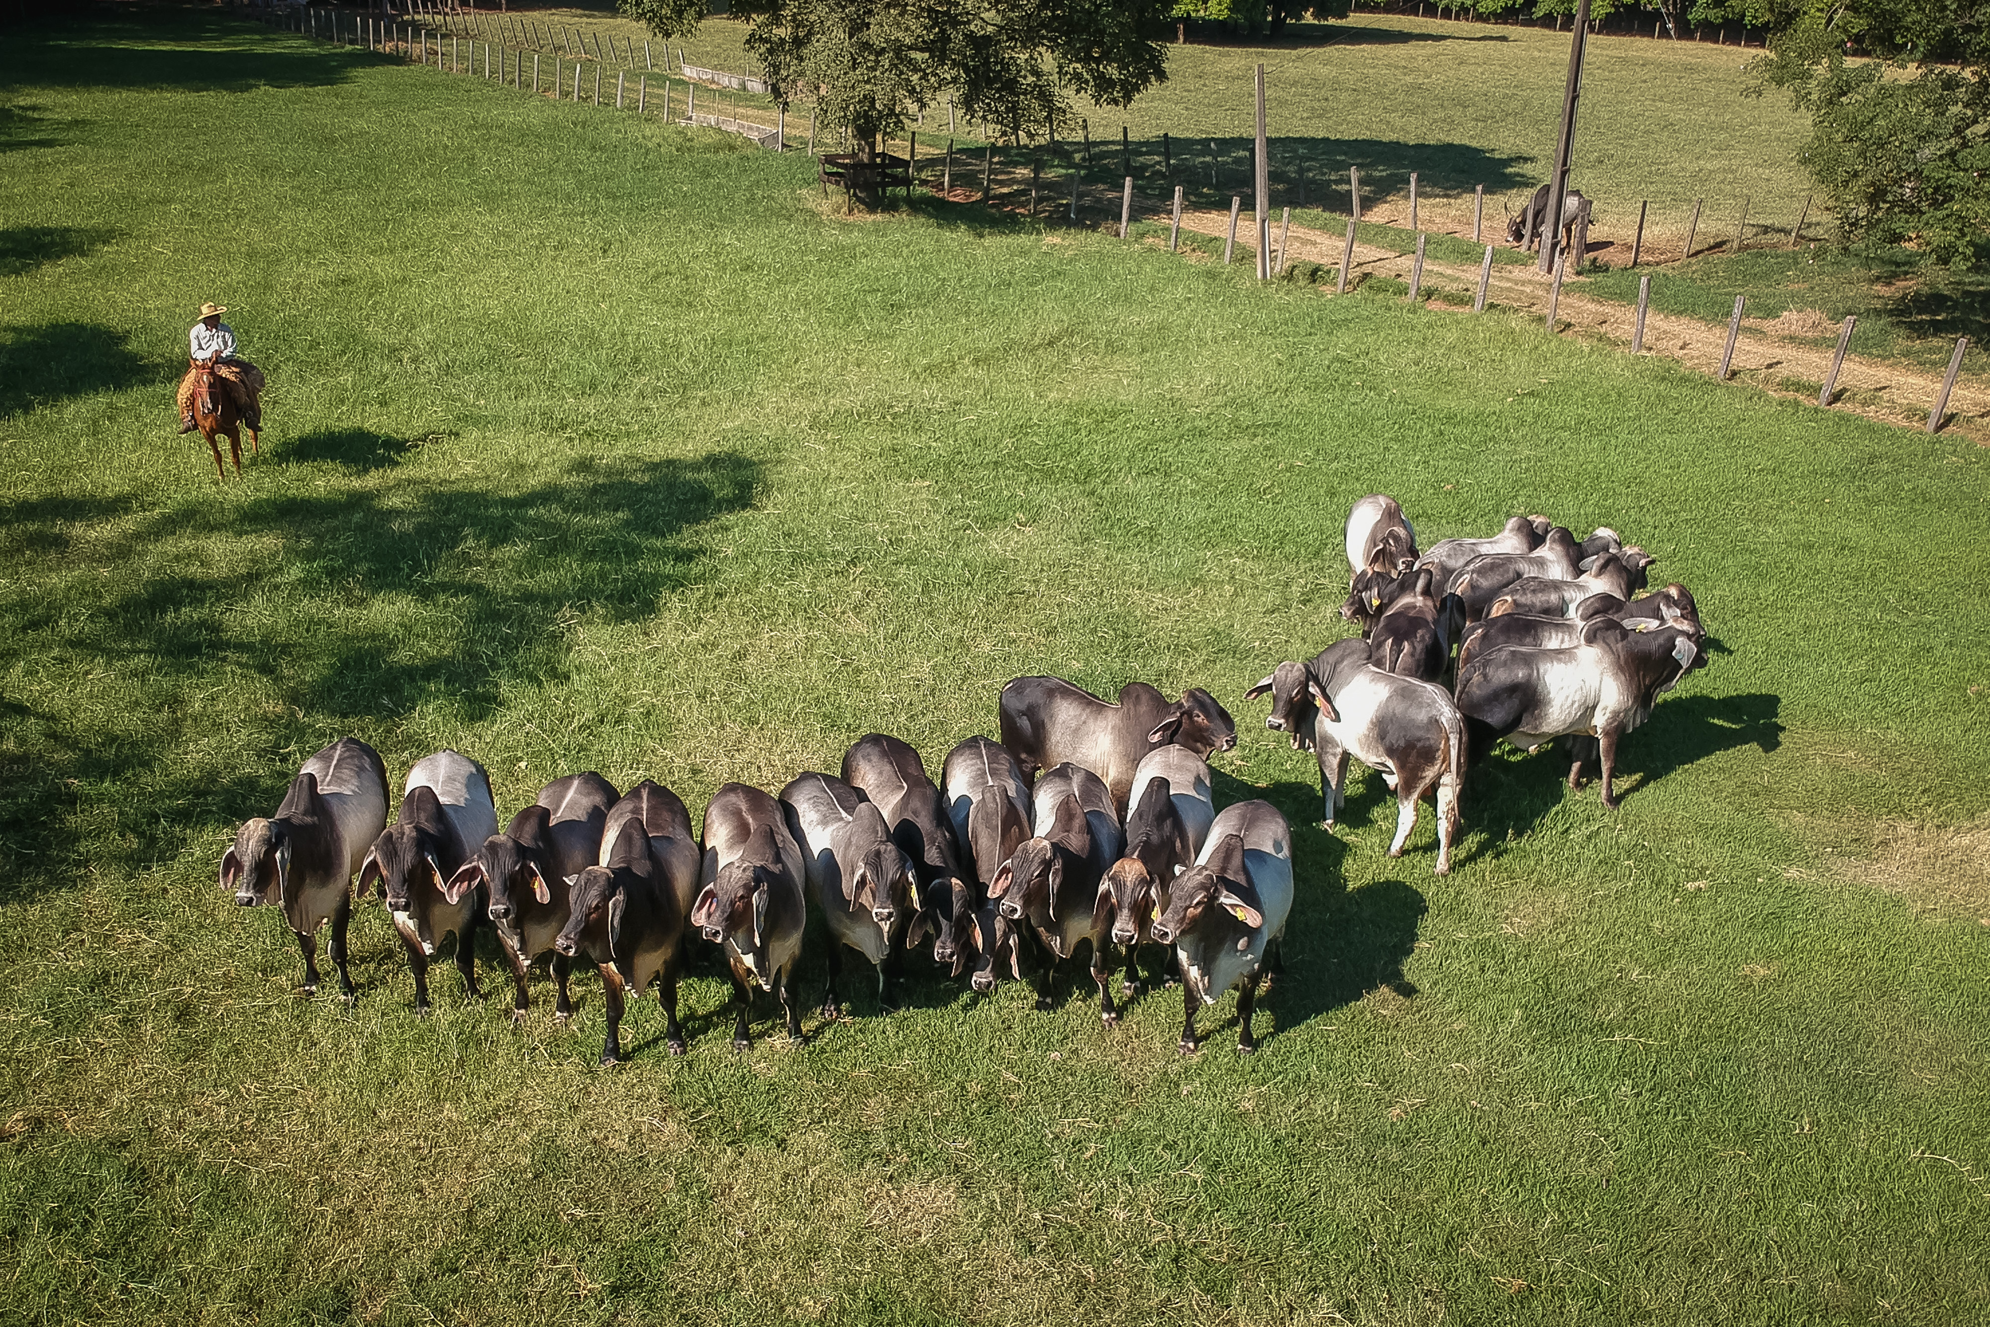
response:
<path id="1" fill-rule="evenodd" d="M 1964 0 L 1815 4 L 1753 62 L 1811 113 L 1803 163 L 1851 241 L 1990 261 L 1990 10 Z"/>

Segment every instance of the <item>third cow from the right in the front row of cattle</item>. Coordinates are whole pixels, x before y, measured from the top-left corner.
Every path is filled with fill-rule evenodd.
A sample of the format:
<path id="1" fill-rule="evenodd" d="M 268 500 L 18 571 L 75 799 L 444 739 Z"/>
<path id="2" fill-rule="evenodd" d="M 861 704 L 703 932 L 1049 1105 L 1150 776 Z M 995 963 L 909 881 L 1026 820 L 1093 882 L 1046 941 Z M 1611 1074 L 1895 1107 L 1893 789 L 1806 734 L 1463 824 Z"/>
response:
<path id="1" fill-rule="evenodd" d="M 1120 824 L 1104 782 L 1073 762 L 1037 782 L 1035 820 L 1037 836 L 995 871 L 989 899 L 1011 921 L 1029 921 L 1049 951 L 1037 985 L 1037 1009 L 1049 1009 L 1057 963 L 1093 935 L 1098 885 L 1120 855 Z"/>

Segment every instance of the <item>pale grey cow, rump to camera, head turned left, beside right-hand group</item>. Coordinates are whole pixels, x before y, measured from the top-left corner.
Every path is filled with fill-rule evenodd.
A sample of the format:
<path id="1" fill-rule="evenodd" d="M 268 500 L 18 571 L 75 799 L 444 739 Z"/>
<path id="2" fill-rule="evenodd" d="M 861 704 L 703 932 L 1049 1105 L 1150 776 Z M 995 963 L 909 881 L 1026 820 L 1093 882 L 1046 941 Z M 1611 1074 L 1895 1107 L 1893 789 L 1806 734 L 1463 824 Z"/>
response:
<path id="1" fill-rule="evenodd" d="M 1443 686 L 1373 668 L 1365 641 L 1337 641 L 1311 663 L 1278 664 L 1246 700 L 1264 694 L 1272 696 L 1266 728 L 1292 734 L 1294 746 L 1311 746 L 1319 756 L 1325 828 L 1345 802 L 1353 756 L 1395 790 L 1391 857 L 1403 855 L 1417 828 L 1419 800 L 1437 796 L 1437 873 L 1451 873 L 1467 748 L 1465 722 Z"/>

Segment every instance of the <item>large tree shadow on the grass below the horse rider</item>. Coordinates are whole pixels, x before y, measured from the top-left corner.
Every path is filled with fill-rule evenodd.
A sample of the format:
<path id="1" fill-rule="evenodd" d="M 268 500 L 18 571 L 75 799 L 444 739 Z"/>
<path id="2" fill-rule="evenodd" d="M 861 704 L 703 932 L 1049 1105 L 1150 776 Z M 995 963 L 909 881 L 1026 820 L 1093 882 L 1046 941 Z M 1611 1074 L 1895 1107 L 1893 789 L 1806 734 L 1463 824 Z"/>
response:
<path id="1" fill-rule="evenodd" d="M 109 710 L 96 696 L 76 714 L 0 712 L 0 842 L 22 863 L 0 903 L 66 887 L 82 861 L 139 869 L 189 824 L 275 810 L 291 762 L 191 760 L 211 718 L 181 712 L 193 696 L 261 678 L 267 704 L 245 722 L 277 750 L 420 704 L 476 722 L 507 688 L 557 680 L 589 615 L 655 613 L 702 565 L 702 527 L 758 485 L 758 462 L 712 452 L 579 460 L 509 493 L 404 477 L 145 515 L 125 499 L 6 503 L 4 547 L 32 555 L 0 585 L 0 668 L 127 676 L 131 692 Z"/>

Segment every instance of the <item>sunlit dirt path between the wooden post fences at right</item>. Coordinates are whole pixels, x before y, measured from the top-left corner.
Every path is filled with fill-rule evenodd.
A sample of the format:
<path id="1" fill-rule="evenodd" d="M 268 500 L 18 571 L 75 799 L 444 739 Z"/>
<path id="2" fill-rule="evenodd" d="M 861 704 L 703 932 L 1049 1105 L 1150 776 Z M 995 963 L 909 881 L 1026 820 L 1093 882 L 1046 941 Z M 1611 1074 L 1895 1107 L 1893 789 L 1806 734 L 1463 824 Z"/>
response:
<path id="1" fill-rule="evenodd" d="M 1230 213 L 1184 211 L 1182 229 L 1222 239 L 1230 229 Z M 1288 253 L 1292 259 L 1339 267 L 1345 243 L 1343 235 L 1292 227 Z M 1409 255 L 1357 243 L 1349 281 L 1359 281 L 1363 275 L 1387 275 L 1407 281 L 1409 267 Z M 1471 296 L 1479 288 L 1479 267 L 1457 267 L 1425 259 L 1423 284 L 1463 290 Z M 1568 324 L 1574 332 L 1630 346 L 1636 310 L 1614 300 L 1590 298 L 1582 292 L 1584 284 L 1588 283 L 1580 277 L 1570 277 L 1562 283 L 1562 298 L 1554 308 L 1556 322 Z M 1532 267 L 1494 265 L 1487 286 L 1487 300 L 1546 316 L 1548 277 Z M 1457 306 L 1433 302 L 1431 308 Z M 1471 308 L 1471 304 L 1465 304 L 1465 308 Z M 1741 334 L 1735 338 L 1733 376 L 1777 396 L 1815 402 L 1819 386 L 1831 370 L 1831 350 L 1777 336 L 1771 330 L 1773 326 L 1773 322 L 1761 318 L 1741 320 Z M 1699 318 L 1658 312 L 1656 308 L 1646 314 L 1644 348 L 1648 354 L 1664 354 L 1688 368 L 1715 374 L 1719 372 L 1721 346 L 1725 344 L 1727 324 L 1701 322 Z M 1805 384 L 1809 386 L 1807 392 Z M 1835 408 L 1887 424 L 1924 426 L 1940 386 L 1942 374 L 1938 372 L 1847 354 L 1845 366 L 1839 370 L 1839 400 Z M 1956 382 L 1956 390 L 1948 398 L 1948 410 L 1952 418 L 1944 432 L 1962 434 L 1980 446 L 1990 446 L 1990 390 L 1966 380 Z"/>

